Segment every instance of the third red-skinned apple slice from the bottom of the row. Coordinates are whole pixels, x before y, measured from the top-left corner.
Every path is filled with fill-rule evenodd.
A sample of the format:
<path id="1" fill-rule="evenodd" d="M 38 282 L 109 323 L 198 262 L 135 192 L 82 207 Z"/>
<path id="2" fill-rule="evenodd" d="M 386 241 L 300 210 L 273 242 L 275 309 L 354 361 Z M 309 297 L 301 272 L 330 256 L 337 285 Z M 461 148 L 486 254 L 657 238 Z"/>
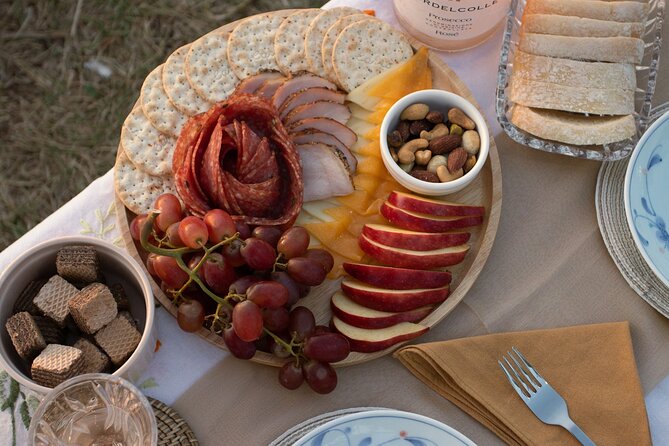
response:
<path id="1" fill-rule="evenodd" d="M 353 301 L 379 311 L 409 311 L 446 300 L 449 287 L 389 290 L 355 279 L 344 279 L 341 290 Z"/>

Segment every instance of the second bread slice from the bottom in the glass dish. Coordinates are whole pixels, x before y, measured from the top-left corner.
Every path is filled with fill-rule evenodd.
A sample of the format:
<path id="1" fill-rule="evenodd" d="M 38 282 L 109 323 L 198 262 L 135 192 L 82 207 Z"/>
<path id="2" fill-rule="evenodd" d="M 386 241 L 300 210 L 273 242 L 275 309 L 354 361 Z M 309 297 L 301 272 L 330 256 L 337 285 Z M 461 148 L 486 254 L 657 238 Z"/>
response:
<path id="1" fill-rule="evenodd" d="M 575 87 L 513 77 L 509 99 L 527 107 L 597 115 L 634 113 L 634 91 Z"/>

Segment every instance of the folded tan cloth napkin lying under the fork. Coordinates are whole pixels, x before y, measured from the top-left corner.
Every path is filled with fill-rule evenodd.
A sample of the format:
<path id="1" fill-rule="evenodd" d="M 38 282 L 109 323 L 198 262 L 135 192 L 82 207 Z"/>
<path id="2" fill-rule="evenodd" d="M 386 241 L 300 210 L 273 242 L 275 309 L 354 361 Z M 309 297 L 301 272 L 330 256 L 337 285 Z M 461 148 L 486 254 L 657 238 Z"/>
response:
<path id="1" fill-rule="evenodd" d="M 395 357 L 510 445 L 578 445 L 563 428 L 539 421 L 513 390 L 497 364 L 512 346 L 562 395 L 597 445 L 651 444 L 627 322 L 412 345 Z"/>

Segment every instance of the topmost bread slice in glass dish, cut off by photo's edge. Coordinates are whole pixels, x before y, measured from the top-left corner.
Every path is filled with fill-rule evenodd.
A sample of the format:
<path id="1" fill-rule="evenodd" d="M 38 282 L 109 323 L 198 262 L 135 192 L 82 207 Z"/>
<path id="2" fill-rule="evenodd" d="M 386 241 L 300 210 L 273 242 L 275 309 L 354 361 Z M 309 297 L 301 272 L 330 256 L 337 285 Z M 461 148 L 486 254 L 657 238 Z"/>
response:
<path id="1" fill-rule="evenodd" d="M 614 22 L 643 22 L 648 14 L 648 4 L 635 1 L 528 0 L 525 14 L 556 14 Z"/>

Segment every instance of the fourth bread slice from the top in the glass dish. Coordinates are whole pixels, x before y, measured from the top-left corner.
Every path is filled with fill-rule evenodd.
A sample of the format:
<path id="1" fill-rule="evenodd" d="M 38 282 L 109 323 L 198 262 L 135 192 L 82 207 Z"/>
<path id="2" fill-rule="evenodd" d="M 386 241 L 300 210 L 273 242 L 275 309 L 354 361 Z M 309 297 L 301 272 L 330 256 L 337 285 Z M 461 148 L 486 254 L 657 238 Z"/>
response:
<path id="1" fill-rule="evenodd" d="M 573 87 L 636 89 L 632 64 L 583 62 L 516 51 L 513 76 Z"/>

